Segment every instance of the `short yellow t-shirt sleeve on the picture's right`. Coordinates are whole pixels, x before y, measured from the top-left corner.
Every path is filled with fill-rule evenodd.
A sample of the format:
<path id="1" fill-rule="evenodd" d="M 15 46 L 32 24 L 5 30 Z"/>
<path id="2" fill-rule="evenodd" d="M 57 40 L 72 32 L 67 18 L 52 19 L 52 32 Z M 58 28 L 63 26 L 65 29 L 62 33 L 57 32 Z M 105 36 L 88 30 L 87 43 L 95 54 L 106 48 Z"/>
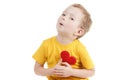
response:
<path id="1" fill-rule="evenodd" d="M 83 68 L 85 68 L 85 69 L 93 69 L 94 68 L 94 63 L 85 47 L 83 47 L 81 49 L 80 59 L 81 59 L 81 64 L 82 64 Z"/>

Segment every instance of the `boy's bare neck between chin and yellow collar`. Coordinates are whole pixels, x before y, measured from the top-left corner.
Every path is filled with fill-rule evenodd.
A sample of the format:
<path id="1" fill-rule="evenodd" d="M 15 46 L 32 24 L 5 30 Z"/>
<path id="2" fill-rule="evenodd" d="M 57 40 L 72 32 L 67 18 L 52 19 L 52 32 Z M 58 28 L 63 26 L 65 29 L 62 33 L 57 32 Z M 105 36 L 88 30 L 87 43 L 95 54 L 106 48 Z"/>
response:
<path id="1" fill-rule="evenodd" d="M 69 44 L 74 40 L 74 38 L 58 34 L 57 35 L 57 40 L 62 44 Z"/>

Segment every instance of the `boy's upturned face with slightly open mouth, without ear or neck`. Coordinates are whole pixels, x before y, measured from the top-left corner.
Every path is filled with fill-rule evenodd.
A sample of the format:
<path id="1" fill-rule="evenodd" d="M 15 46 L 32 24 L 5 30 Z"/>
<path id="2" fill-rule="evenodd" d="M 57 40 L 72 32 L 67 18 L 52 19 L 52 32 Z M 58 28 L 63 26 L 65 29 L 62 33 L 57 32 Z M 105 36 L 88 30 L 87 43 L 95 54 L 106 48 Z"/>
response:
<path id="1" fill-rule="evenodd" d="M 64 33 L 67 35 L 73 35 L 79 32 L 83 13 L 79 8 L 68 7 L 63 11 L 57 22 L 58 33 Z"/>

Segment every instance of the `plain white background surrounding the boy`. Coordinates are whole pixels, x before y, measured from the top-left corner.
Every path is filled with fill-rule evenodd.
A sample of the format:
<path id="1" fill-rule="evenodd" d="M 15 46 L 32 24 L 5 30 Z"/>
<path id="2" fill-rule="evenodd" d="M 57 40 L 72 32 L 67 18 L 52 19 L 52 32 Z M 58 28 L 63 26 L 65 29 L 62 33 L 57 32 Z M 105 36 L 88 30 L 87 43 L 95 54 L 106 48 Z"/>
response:
<path id="1" fill-rule="evenodd" d="M 119 0 L 0 0 L 0 80 L 47 80 L 34 74 L 32 55 L 57 34 L 57 18 L 72 3 L 93 20 L 81 38 L 95 63 L 91 80 L 120 80 Z"/>

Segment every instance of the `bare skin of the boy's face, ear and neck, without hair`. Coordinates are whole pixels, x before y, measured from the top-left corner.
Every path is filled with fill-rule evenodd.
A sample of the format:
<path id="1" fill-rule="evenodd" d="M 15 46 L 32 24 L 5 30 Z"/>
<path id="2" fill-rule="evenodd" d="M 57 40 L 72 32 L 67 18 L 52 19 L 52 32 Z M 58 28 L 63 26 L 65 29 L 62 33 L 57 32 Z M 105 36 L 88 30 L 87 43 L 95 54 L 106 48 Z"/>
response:
<path id="1" fill-rule="evenodd" d="M 83 14 L 78 8 L 70 6 L 63 11 L 56 27 L 58 31 L 57 39 L 60 43 L 68 44 L 84 33 L 84 30 L 79 27 L 82 18 Z"/>

